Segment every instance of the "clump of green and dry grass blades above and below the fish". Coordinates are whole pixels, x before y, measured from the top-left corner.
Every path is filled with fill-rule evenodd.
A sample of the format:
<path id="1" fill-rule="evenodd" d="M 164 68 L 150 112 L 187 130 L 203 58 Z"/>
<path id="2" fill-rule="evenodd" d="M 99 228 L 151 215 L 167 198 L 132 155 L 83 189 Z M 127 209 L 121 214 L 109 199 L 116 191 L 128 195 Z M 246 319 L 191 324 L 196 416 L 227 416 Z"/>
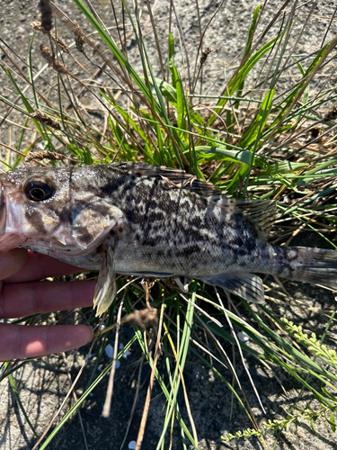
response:
<path id="1" fill-rule="evenodd" d="M 112 3 L 112 25 L 104 23 L 99 6 L 89 2 L 74 0 L 81 24 L 58 4 L 40 4 L 42 16 L 40 22 L 32 23 L 34 33 L 24 70 L 17 63 L 17 55 L 4 40 L 0 41 L 5 55 L 0 66 L 10 83 L 9 94 L 0 95 L 4 105 L 2 125 L 10 124 L 16 130 L 15 146 L 2 143 L 4 170 L 31 161 L 87 165 L 124 160 L 180 167 L 216 184 L 227 195 L 278 199 L 279 216 L 271 233 L 274 243 L 288 244 L 300 231 L 309 229 L 321 244 L 336 248 L 332 232 L 337 209 L 337 94 L 332 67 L 337 38 L 327 39 L 328 25 L 317 49 L 309 54 L 298 50 L 313 20 L 313 8 L 303 14 L 303 24 L 299 25 L 296 1 L 285 2 L 270 22 L 264 19 L 266 4 L 259 5 L 247 26 L 243 50 L 226 65 L 226 76 L 214 80 L 215 88 L 209 81 L 209 67 L 216 50 L 211 49 L 206 37 L 213 21 L 223 14 L 223 4 L 212 12 L 208 23 L 202 22 L 199 5 L 195 4 L 200 40 L 192 53 L 174 3 L 167 11 L 164 39 L 158 35 L 149 2 L 142 11 L 137 3 Z M 38 51 L 40 61 L 45 60 L 39 69 L 35 62 Z M 278 432 L 301 421 L 314 429 L 312 424 L 318 418 L 335 430 L 335 354 L 323 345 L 333 326 L 332 307 L 315 311 L 327 320 L 318 344 L 316 338 L 307 338 L 299 326 L 282 318 L 294 301 L 283 285 L 275 287 L 270 280 L 266 281 L 269 303 L 259 308 L 230 297 L 225 297 L 225 306 L 223 293 L 219 295 L 197 282 L 191 284 L 188 293 L 160 280 L 143 288 L 134 280 L 120 277 L 118 284 L 120 293 L 104 319 L 106 330 L 113 330 L 116 352 L 121 324 L 113 311 L 121 314 L 120 304 L 126 314 L 132 314 L 134 302 L 145 304 L 150 296 L 151 307 L 160 311 L 156 335 L 135 327 L 132 338 L 97 376 L 107 343 L 107 333 L 97 332 L 97 358 L 89 383 L 49 436 L 40 437 L 40 449 L 49 446 L 111 368 L 114 373 L 116 361 L 136 347 L 136 341 L 143 355 L 139 379 L 145 362 L 151 367 L 139 436 L 151 409 L 148 400 L 154 379 L 164 394 L 158 449 L 175 441 L 179 441 L 179 448 L 189 444 L 201 448 L 200 434 L 205 430 L 198 429 L 194 422 L 184 373 L 191 356 L 226 385 L 253 424 L 254 429 L 229 433 L 227 440 L 257 436 L 265 445 L 266 430 Z M 297 307 L 304 311 L 305 302 L 297 301 Z M 50 319 L 44 316 L 22 321 L 39 320 Z M 96 329 L 102 325 L 93 319 L 91 311 L 85 311 L 82 320 L 89 320 Z M 239 340 L 238 331 L 250 341 Z M 232 349 L 232 357 L 228 349 Z M 324 365 L 315 362 L 317 356 Z M 251 391 L 256 393 L 253 401 L 264 416 L 265 407 L 245 363 L 247 358 L 257 359 L 270 373 L 281 368 L 297 383 L 298 398 L 287 405 L 282 419 L 268 418 L 259 426 L 252 398 L 248 399 L 247 388 L 237 374 L 237 357 L 242 360 Z M 16 394 L 13 373 L 20 367 L 19 362 L 4 365 L 2 372 Z M 318 401 L 317 410 L 309 403 L 305 408 L 297 406 L 305 394 Z M 25 414 L 22 402 L 19 404 Z M 229 420 L 232 413 L 226 414 Z M 176 423 L 179 433 L 174 431 Z"/>

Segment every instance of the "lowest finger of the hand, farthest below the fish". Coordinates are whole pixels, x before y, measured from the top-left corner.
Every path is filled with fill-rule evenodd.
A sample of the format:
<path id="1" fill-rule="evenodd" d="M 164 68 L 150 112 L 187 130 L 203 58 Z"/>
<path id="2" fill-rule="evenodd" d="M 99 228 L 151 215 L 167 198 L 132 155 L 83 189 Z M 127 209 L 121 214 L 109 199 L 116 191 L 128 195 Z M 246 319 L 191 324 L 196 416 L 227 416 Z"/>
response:
<path id="1" fill-rule="evenodd" d="M 85 325 L 26 327 L 0 324 L 0 361 L 64 352 L 84 346 L 93 337 Z"/>

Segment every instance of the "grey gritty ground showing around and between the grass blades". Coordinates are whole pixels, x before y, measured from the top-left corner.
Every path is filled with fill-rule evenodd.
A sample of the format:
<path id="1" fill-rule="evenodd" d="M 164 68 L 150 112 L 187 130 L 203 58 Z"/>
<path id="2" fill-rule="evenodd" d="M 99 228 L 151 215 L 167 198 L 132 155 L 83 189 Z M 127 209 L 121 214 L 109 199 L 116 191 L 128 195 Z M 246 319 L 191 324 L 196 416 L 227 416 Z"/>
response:
<path id="1" fill-rule="evenodd" d="M 26 58 L 28 54 L 29 37 L 31 36 L 29 24 L 37 18 L 36 4 L 37 2 L 32 2 L 31 0 L 2 0 L 1 2 L 0 37 L 10 43 L 11 47 L 22 58 Z M 58 4 L 72 18 L 75 17 L 86 31 L 90 31 L 89 27 L 85 26 L 84 19 L 76 12 L 75 5 L 70 0 L 59 1 Z M 102 16 L 108 17 L 108 19 L 110 17 L 112 23 L 109 3 L 98 1 L 95 4 L 99 8 L 99 11 L 102 12 Z M 204 47 L 210 47 L 212 49 L 212 53 L 208 57 L 208 66 L 204 73 L 204 79 L 207 80 L 207 83 L 204 85 L 204 92 L 208 92 L 209 94 L 218 92 L 218 87 L 223 85 L 226 77 L 226 68 L 231 61 L 235 60 L 235 56 L 239 50 L 242 50 L 244 47 L 246 31 L 253 14 L 253 8 L 257 4 L 258 2 L 255 1 L 230 0 L 225 2 L 221 7 L 216 21 L 209 27 L 204 40 Z M 264 13 L 264 23 L 270 20 L 272 14 L 279 9 L 281 4 L 282 2 L 280 1 L 272 1 L 267 4 Z M 218 2 L 212 1 L 200 3 L 200 16 L 203 26 L 208 23 L 209 18 L 216 11 L 218 5 Z M 298 19 L 295 25 L 297 30 L 299 30 L 301 23 L 304 23 L 305 14 L 307 14 L 312 5 L 313 2 L 306 2 L 298 8 Z M 141 4 L 140 7 L 145 8 L 146 6 L 145 4 Z M 298 43 L 298 53 L 310 53 L 312 49 L 316 49 L 317 42 L 323 40 L 326 27 L 333 15 L 333 8 L 333 1 L 318 2 L 311 22 L 306 27 L 306 34 Z M 198 47 L 199 43 L 197 11 L 194 3 L 186 4 L 185 2 L 178 4 L 177 10 L 184 31 L 184 39 L 186 41 L 192 71 L 192 63 L 195 60 L 196 47 Z M 159 38 L 163 41 L 164 49 L 167 36 L 167 14 L 168 2 L 158 2 L 155 5 L 155 19 L 159 24 Z M 177 22 L 174 21 L 174 23 Z M 275 30 L 278 29 L 278 26 L 278 24 L 275 25 Z M 155 47 L 152 34 L 149 30 L 150 25 L 147 25 L 146 41 L 150 49 L 150 54 L 152 54 L 152 50 L 154 51 Z M 335 31 L 336 24 L 333 23 L 329 36 L 331 37 Z M 173 27 L 173 35 L 176 46 L 178 47 L 175 26 Z M 137 50 L 134 43 L 130 42 L 129 50 L 132 58 L 137 62 Z M 0 52 L 0 54 L 4 58 L 3 53 Z M 37 69 L 42 67 L 43 61 L 40 58 L 38 42 L 33 45 L 32 56 L 35 67 Z M 178 62 L 180 60 L 179 54 L 177 60 Z M 232 63 L 233 66 L 235 66 L 235 63 Z M 5 91 L 6 83 L 4 74 L 1 74 L 1 94 L 7 94 Z M 11 126 L 3 126 L 0 131 L 1 139 L 8 145 L 11 145 L 11 142 L 15 142 L 16 137 Z M 291 293 L 291 299 L 293 300 L 280 304 L 270 304 L 270 308 L 275 313 L 278 313 L 280 317 L 285 315 L 289 320 L 296 321 L 298 325 L 303 325 L 305 329 L 315 330 L 319 334 L 324 329 L 326 323 L 324 314 L 309 311 L 306 307 L 300 306 L 298 302 L 305 302 L 305 305 L 321 310 L 331 310 L 333 295 L 323 289 L 313 289 L 308 285 L 302 284 L 289 283 L 286 284 L 286 288 Z M 295 303 L 294 299 L 297 300 L 297 303 Z M 335 327 L 332 331 L 336 331 Z M 123 329 L 121 341 L 126 343 L 130 338 L 130 333 L 130 329 Z M 335 346 L 335 338 L 336 336 L 332 332 L 329 335 L 327 344 L 330 344 L 332 347 Z M 113 344 L 113 336 L 110 339 L 111 344 Z M 229 353 L 231 352 L 230 347 L 226 348 L 226 350 Z M 67 363 L 62 356 L 46 356 L 27 363 L 14 374 L 14 380 L 20 392 L 24 408 L 29 413 L 32 425 L 36 428 L 39 436 L 47 428 L 49 420 L 64 400 L 70 383 L 69 376 L 73 380 L 75 379 L 75 375 L 83 363 L 87 351 L 88 347 L 84 347 L 78 352 L 70 352 L 67 356 Z M 84 436 L 87 441 L 87 448 L 89 449 L 95 449 L 99 446 L 113 450 L 120 448 L 135 395 L 135 380 L 137 379 L 135 367 L 141 357 L 140 350 L 136 345 L 132 347 L 131 352 L 131 356 L 121 361 L 120 368 L 117 371 L 111 418 L 102 419 L 101 417 L 102 403 L 107 384 L 107 380 L 104 379 L 84 401 L 83 408 L 80 411 L 81 417 L 76 415 L 72 418 L 71 422 L 68 422 L 69 425 L 67 428 L 64 428 L 63 433 L 59 433 L 50 444 L 51 448 L 62 450 L 72 450 L 74 447 L 85 448 Z M 75 392 L 78 397 L 84 392 L 95 357 L 93 355 L 88 368 L 85 369 L 83 376 L 76 385 Z M 108 363 L 108 356 L 104 356 L 101 370 Z M 248 392 L 247 395 L 253 405 L 253 412 L 258 422 L 261 424 L 263 420 L 278 419 L 281 415 L 284 416 L 284 410 L 287 410 L 288 405 L 292 404 L 297 398 L 300 386 L 283 374 L 279 368 L 274 369 L 274 371 L 268 371 L 256 360 L 248 357 L 247 365 L 250 368 L 254 383 L 260 392 L 262 402 L 267 411 L 266 416 L 264 416 L 253 395 L 243 368 L 240 367 L 239 363 L 237 365 L 240 381 L 243 383 L 245 391 Z M 69 374 L 67 374 L 67 370 L 69 370 Z M 159 370 L 164 374 L 165 368 L 164 362 L 162 361 L 159 363 Z M 191 410 L 199 433 L 200 449 L 262 448 L 261 441 L 256 438 L 249 441 L 240 440 L 238 442 L 232 441 L 228 444 L 224 443 L 220 438 L 221 435 L 226 432 L 235 433 L 238 429 L 251 427 L 248 419 L 246 419 L 244 412 L 235 402 L 233 404 L 232 418 L 230 419 L 230 410 L 232 407 L 231 394 L 226 390 L 224 383 L 221 383 L 214 374 L 210 373 L 208 368 L 200 363 L 199 359 L 192 355 L 189 357 L 185 374 L 191 401 Z M 145 365 L 142 375 L 145 385 L 140 393 L 136 414 L 129 430 L 126 444 L 123 446 L 125 449 L 129 448 L 129 442 L 137 437 L 137 430 L 146 395 L 147 375 L 148 367 Z M 229 374 L 227 379 L 230 381 Z M 312 398 L 309 396 L 304 397 L 300 405 L 305 406 L 306 401 L 309 401 L 311 406 L 315 408 L 315 401 L 312 401 Z M 60 414 L 60 418 L 67 413 L 69 405 L 73 402 L 74 399 L 67 401 L 66 406 Z M 180 402 L 183 404 L 182 397 Z M 143 448 L 146 450 L 155 448 L 158 437 L 160 436 L 161 424 L 164 420 L 163 406 L 163 394 L 155 386 L 146 426 L 146 437 L 143 444 Z M 186 410 L 183 407 L 182 416 L 188 421 Z M 81 430 L 81 420 L 83 430 Z M 288 432 L 282 434 L 275 448 L 277 450 L 333 450 L 337 448 L 337 437 L 325 422 L 318 423 L 315 429 L 317 435 L 314 435 L 306 424 L 301 425 L 297 429 L 292 427 Z M 275 438 L 271 435 L 266 437 L 268 448 L 272 448 L 274 441 Z M 0 385 L 0 448 L 2 450 L 31 449 L 35 443 L 36 438 L 32 435 L 31 429 L 22 416 L 17 402 L 14 400 L 9 383 L 5 380 Z M 190 448 L 188 444 L 187 447 Z M 168 448 L 168 446 L 165 448 Z M 182 438 L 176 426 L 173 431 L 172 448 L 173 450 L 182 448 Z"/>

